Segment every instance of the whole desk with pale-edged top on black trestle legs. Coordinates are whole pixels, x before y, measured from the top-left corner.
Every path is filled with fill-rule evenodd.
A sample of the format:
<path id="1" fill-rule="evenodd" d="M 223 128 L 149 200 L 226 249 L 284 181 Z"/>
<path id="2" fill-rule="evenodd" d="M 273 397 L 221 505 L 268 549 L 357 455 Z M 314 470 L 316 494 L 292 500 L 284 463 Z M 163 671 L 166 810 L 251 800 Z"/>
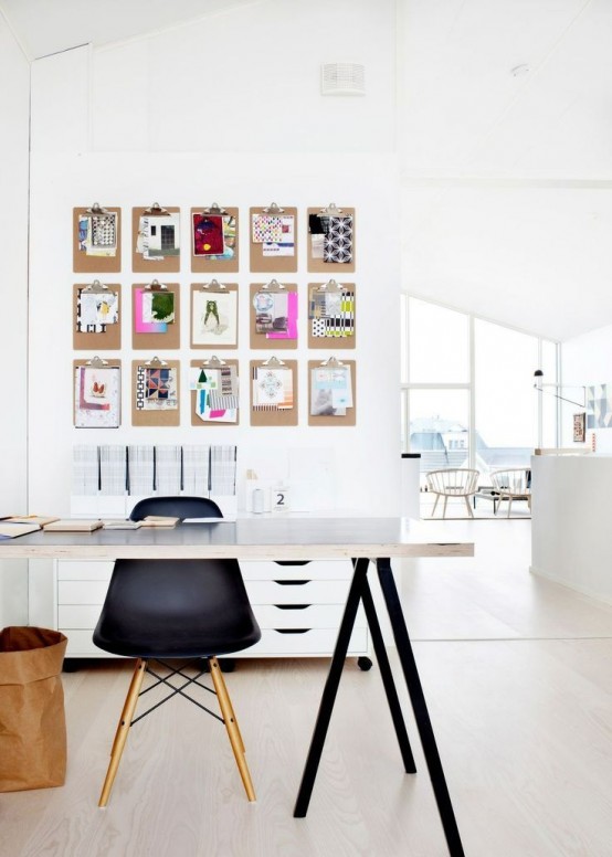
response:
<path id="1" fill-rule="evenodd" d="M 315 723 L 313 739 L 297 794 L 294 816 L 308 810 L 342 666 L 358 607 L 363 604 L 404 770 L 415 772 L 389 658 L 370 584 L 368 568 L 376 565 L 398 656 L 408 687 L 419 737 L 428 764 L 449 851 L 464 854 L 461 837 L 430 720 L 419 670 L 401 602 L 391 571 L 391 559 L 415 557 L 472 557 L 471 542 L 437 538 L 428 527 L 404 518 L 239 518 L 205 523 L 183 523 L 173 529 L 140 528 L 84 532 L 33 532 L 0 542 L 1 559 L 116 560 L 168 558 L 235 558 L 238 560 L 352 560 L 354 574 L 338 628 L 338 637 Z"/>

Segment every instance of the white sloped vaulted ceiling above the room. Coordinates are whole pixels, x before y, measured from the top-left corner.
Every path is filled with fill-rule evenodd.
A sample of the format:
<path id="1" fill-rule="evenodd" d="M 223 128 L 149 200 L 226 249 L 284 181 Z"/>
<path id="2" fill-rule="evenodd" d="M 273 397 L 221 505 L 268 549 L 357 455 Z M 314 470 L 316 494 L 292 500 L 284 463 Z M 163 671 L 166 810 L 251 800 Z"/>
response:
<path id="1" fill-rule="evenodd" d="M 0 8 L 36 59 L 274 2 Z M 612 324 L 612 0 L 397 7 L 404 285 L 556 339 Z"/>

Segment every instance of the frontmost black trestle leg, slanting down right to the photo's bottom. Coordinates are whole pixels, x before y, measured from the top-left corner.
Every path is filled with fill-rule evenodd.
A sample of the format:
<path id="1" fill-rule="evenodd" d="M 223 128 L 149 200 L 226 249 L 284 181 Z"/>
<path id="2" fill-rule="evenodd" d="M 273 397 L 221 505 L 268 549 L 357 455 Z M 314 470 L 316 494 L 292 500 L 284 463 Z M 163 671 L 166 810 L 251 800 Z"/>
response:
<path id="1" fill-rule="evenodd" d="M 416 728 L 419 729 L 419 737 L 421 738 L 421 744 L 428 763 L 442 827 L 444 828 L 449 854 L 451 857 L 464 857 L 463 845 L 453 805 L 451 803 L 451 795 L 449 794 L 444 770 L 442 768 L 440 753 L 437 752 L 433 727 L 425 703 L 419 670 L 416 669 L 416 662 L 414 660 L 414 654 L 405 626 L 398 589 L 391 571 L 391 563 L 389 559 L 379 559 L 377 560 L 377 568 L 384 603 L 389 612 L 389 618 L 391 620 L 391 628 L 393 631 L 398 655 L 405 677 L 410 701 L 412 703 L 412 710 L 414 711 Z"/>

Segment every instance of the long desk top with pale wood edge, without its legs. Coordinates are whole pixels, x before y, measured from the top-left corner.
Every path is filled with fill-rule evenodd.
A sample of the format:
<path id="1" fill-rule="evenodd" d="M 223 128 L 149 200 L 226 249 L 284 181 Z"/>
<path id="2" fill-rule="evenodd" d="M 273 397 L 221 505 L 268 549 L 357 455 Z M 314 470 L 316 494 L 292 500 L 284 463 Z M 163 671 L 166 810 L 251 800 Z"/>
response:
<path id="1" fill-rule="evenodd" d="M 405 518 L 221 519 L 172 529 L 32 532 L 0 542 L 2 559 L 316 560 L 473 557 L 473 542 L 451 542 Z"/>

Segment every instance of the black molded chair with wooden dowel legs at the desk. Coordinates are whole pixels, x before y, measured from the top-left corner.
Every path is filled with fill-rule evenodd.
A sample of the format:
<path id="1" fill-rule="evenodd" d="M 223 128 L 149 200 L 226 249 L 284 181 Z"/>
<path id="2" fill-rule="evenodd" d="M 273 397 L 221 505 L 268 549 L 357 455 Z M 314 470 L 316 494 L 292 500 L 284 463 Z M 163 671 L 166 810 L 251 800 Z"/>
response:
<path id="1" fill-rule="evenodd" d="M 184 501 L 184 502 L 183 502 Z M 133 519 L 146 515 L 173 515 L 180 518 L 222 517 L 217 504 L 199 497 L 151 497 L 138 502 Z M 179 525 L 181 526 L 181 525 Z M 192 525 L 183 525 L 192 526 Z M 214 526 L 214 525 L 213 525 Z M 106 806 L 117 774 L 129 728 L 162 702 L 180 695 L 225 724 L 236 764 L 250 801 L 255 791 L 244 758 L 244 743 L 236 722 L 218 655 L 252 646 L 261 631 L 251 610 L 240 567 L 234 559 L 217 560 L 117 560 L 94 631 L 94 643 L 114 655 L 136 657 L 136 668 L 124 703 L 110 763 L 102 789 L 99 806 Z M 176 667 L 168 659 L 187 659 Z M 167 675 L 154 670 L 158 662 Z M 194 675 L 184 669 L 191 667 Z M 200 678 L 210 670 L 213 688 Z M 141 690 L 145 673 L 156 679 Z M 172 681 L 182 681 L 177 686 Z M 154 687 L 170 690 L 161 702 L 134 717 L 138 698 Z M 193 686 L 214 694 L 221 717 L 184 691 Z"/>

